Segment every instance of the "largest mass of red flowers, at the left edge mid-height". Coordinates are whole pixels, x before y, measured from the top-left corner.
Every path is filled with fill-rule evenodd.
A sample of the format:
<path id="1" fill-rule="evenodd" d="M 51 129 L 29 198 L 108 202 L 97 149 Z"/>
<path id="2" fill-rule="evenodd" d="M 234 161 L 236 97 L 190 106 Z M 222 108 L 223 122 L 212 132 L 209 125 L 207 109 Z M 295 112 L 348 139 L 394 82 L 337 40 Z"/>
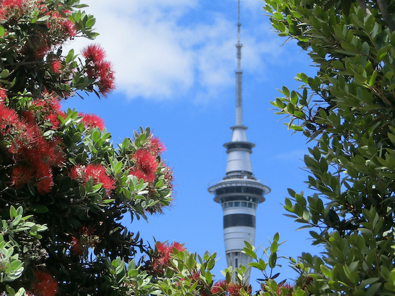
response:
<path id="1" fill-rule="evenodd" d="M 11 185 L 20 187 L 33 183 L 40 194 L 48 193 L 53 186 L 52 167 L 59 167 L 64 161 L 61 141 L 53 137 L 42 136 L 36 118 L 42 115 L 43 121 L 50 121 L 53 128 L 58 127 L 59 111 L 56 99 L 44 99 L 33 102 L 41 115 L 34 111 L 25 111 L 19 116 L 14 109 L 8 108 L 5 95 L 1 94 L 0 102 L 0 136 L 8 139 L 8 152 L 12 155 L 14 165 L 11 172 Z M 44 94 L 43 98 L 49 95 Z"/>

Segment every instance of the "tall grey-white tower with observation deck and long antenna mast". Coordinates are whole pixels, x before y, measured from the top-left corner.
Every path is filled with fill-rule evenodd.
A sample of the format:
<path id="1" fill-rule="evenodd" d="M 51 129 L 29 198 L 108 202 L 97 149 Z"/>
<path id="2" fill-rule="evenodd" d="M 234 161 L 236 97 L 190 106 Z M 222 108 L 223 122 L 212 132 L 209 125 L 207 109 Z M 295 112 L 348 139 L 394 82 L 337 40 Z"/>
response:
<path id="1" fill-rule="evenodd" d="M 236 125 L 232 126 L 232 140 L 224 144 L 228 153 L 226 176 L 208 191 L 215 195 L 214 201 L 221 204 L 224 211 L 224 240 L 228 267 L 247 266 L 252 261 L 241 253 L 244 241 L 255 243 L 255 214 L 258 204 L 265 201 L 270 188 L 256 180 L 252 173 L 252 148 L 255 144 L 247 141 L 246 126 L 243 125 L 241 107 L 241 46 L 240 44 L 240 0 L 238 1 L 237 22 L 237 86 Z M 247 277 L 249 277 L 249 270 Z M 235 275 L 234 275 L 235 276 Z"/>

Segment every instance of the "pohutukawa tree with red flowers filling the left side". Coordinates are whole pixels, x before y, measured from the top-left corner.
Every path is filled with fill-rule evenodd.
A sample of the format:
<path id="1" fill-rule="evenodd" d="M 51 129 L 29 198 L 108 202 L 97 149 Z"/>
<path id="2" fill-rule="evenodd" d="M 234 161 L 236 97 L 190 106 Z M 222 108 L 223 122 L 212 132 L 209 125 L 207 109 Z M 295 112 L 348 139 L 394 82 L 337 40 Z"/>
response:
<path id="1" fill-rule="evenodd" d="M 161 212 L 170 203 L 172 172 L 161 159 L 163 144 L 140 129 L 115 149 L 100 117 L 61 110 L 62 100 L 79 91 L 106 96 L 115 88 L 99 45 L 81 56 L 63 52 L 64 42 L 97 35 L 84 6 L 0 0 L 2 295 L 153 289 L 134 274 L 117 278 L 126 267 L 114 271 L 112 261 L 130 262 L 131 270 L 137 252 L 154 256 L 120 220 L 126 213 L 133 219 Z"/>

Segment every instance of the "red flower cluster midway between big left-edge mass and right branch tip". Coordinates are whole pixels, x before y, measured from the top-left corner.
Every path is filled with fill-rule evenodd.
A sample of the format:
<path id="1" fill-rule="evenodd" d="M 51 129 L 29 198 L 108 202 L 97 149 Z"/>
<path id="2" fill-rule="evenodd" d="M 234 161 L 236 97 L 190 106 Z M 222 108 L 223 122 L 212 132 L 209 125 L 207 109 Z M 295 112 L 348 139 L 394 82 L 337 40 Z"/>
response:
<path id="1" fill-rule="evenodd" d="M 115 188 L 115 181 L 107 175 L 106 168 L 100 163 L 91 163 L 87 166 L 79 165 L 72 168 L 69 176 L 79 183 L 85 184 L 89 178 L 93 179 L 93 184 L 102 184 L 107 189 L 107 194 Z"/>

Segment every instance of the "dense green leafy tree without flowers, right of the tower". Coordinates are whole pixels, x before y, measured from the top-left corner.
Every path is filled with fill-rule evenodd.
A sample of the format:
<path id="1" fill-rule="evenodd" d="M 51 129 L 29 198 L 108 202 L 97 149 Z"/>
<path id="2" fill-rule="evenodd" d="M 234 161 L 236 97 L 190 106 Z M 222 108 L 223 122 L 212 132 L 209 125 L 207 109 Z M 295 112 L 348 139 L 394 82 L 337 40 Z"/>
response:
<path id="1" fill-rule="evenodd" d="M 272 102 L 314 143 L 304 161 L 316 193 L 289 189 L 284 208 L 325 252 L 294 260 L 295 290 L 394 295 L 395 2 L 267 0 L 264 9 L 317 69 Z"/>

